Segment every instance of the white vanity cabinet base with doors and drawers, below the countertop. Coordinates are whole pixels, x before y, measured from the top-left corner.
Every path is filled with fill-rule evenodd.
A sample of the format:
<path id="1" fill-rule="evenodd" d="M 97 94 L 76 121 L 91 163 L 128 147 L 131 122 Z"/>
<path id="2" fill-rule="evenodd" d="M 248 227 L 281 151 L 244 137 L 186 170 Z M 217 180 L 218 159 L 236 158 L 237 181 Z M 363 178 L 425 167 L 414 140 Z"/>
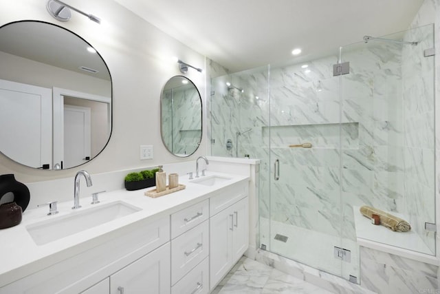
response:
<path id="1" fill-rule="evenodd" d="M 27 272 L 1 286 L 0 294 L 208 294 L 248 249 L 248 187 L 243 178 L 197 190 L 192 199 L 200 200 L 182 202 L 180 210 L 170 201 L 168 213 L 158 211 L 53 251 L 17 268 Z M 188 190 L 181 195 L 187 197 Z M 41 249 L 52 252 L 69 243 L 67 238 Z"/>

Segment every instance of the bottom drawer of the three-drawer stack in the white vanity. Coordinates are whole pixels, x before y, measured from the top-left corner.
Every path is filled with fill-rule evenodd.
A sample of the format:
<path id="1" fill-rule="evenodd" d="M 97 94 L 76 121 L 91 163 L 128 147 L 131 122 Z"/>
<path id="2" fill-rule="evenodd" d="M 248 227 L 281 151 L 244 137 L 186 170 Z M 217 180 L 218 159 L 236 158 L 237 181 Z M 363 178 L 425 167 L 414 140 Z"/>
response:
<path id="1" fill-rule="evenodd" d="M 209 258 L 205 258 L 171 288 L 171 294 L 207 294 L 208 283 Z"/>

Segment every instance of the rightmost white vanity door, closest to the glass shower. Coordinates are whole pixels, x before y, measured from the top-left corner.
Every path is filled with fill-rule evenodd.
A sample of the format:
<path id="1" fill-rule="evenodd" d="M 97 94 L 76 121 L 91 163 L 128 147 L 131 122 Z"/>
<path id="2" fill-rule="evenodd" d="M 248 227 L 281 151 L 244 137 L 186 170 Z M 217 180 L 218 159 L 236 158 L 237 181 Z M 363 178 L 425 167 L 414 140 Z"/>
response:
<path id="1" fill-rule="evenodd" d="M 232 264 L 241 258 L 249 246 L 249 204 L 248 197 L 236 202 L 231 209 L 232 224 Z"/>

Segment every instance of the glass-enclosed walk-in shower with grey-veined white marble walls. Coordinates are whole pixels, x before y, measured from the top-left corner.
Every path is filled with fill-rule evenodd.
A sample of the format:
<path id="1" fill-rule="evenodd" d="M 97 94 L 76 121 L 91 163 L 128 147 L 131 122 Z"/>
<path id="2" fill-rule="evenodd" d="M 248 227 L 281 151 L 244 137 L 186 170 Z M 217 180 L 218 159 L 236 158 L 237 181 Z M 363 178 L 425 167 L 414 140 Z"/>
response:
<path id="1" fill-rule="evenodd" d="M 402 216 L 417 240 L 379 238 L 371 222 L 362 238 L 435 255 L 433 36 L 432 25 L 366 36 L 307 63 L 212 79 L 211 154 L 261 159 L 256 246 L 360 282 L 355 220 L 369 205 Z M 228 151 L 234 134 L 240 149 Z"/>

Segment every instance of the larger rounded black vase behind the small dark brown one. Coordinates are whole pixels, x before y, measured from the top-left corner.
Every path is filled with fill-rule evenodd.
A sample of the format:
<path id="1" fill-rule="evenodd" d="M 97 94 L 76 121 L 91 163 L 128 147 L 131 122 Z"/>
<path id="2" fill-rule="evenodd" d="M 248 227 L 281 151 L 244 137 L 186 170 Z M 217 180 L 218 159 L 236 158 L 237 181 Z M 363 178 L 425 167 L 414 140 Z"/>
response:
<path id="1" fill-rule="evenodd" d="M 5 174 L 0 176 L 0 200 L 7 193 L 12 193 L 14 196 L 14 200 L 12 201 L 17 203 L 17 205 L 21 207 L 22 211 L 25 211 L 30 200 L 29 189 L 23 183 L 17 182 L 13 174 Z"/>

